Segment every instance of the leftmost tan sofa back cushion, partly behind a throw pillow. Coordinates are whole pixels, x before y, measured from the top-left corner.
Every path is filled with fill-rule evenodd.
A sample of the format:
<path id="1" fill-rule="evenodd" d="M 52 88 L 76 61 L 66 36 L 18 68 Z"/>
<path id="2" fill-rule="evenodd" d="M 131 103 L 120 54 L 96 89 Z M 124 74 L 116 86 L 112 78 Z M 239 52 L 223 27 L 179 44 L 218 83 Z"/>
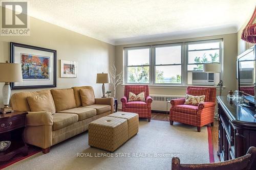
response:
<path id="1" fill-rule="evenodd" d="M 28 91 L 28 92 L 18 92 L 14 93 L 11 96 L 11 105 L 13 110 L 29 112 L 30 107 L 27 101 L 28 96 L 37 95 L 37 94 L 51 94 L 50 90 L 40 90 L 40 91 Z"/>

